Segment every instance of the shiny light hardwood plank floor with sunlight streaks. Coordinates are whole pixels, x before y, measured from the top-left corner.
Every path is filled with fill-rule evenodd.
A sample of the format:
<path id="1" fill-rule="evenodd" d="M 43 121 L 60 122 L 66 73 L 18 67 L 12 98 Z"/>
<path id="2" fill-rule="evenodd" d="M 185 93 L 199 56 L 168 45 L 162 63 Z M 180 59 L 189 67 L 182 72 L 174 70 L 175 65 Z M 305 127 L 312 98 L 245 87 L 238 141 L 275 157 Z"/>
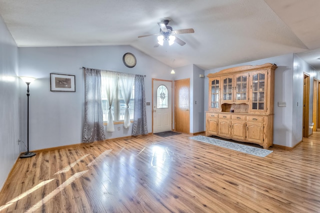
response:
<path id="1" fill-rule="evenodd" d="M 0 212 L 319 212 L 320 134 L 257 157 L 138 136 L 18 159 Z"/>

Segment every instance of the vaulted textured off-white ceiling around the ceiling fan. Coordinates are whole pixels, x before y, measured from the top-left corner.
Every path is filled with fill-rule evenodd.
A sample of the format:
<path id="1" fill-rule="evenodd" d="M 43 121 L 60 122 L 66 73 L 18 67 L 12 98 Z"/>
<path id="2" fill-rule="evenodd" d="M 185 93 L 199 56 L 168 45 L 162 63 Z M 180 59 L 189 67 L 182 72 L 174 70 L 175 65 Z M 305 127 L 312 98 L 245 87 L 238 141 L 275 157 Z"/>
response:
<path id="1" fill-rule="evenodd" d="M 131 45 L 159 61 L 207 70 L 286 53 L 320 69 L 319 0 L 0 0 L 18 46 Z M 180 46 L 153 47 L 164 17 Z M 272 61 L 270 61 L 272 62 Z"/>

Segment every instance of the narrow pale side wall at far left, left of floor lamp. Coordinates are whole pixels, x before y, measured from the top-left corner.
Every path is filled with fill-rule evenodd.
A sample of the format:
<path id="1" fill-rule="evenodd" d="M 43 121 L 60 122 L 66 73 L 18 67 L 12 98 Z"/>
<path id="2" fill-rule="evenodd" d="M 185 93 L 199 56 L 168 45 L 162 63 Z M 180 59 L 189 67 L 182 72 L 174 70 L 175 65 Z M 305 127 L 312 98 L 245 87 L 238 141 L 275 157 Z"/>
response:
<path id="1" fill-rule="evenodd" d="M 0 16 L 0 189 L 19 154 L 17 47 Z"/>

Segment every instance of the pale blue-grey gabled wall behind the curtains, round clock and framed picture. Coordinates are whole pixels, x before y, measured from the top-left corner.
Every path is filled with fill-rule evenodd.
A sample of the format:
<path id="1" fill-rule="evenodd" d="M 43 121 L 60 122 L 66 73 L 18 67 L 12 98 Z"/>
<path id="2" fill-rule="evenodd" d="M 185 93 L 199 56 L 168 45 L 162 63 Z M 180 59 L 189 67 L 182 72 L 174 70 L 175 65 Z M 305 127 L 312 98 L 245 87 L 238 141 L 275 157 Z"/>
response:
<path id="1" fill-rule="evenodd" d="M 131 46 L 19 47 L 18 52 L 19 74 L 37 78 L 30 84 L 30 150 L 81 142 L 84 111 L 82 66 L 146 75 L 146 102 L 152 102 L 151 78 L 172 80 L 174 77 L 169 66 Z M 133 68 L 123 64 L 125 52 L 135 55 L 137 63 Z M 50 72 L 74 74 L 76 91 L 51 92 Z M 25 95 L 24 89 L 20 95 Z M 21 110 L 24 111 L 24 108 L 21 101 Z M 148 131 L 151 132 L 151 106 L 147 106 L 146 110 Z M 107 132 L 106 137 L 131 135 L 131 127 L 124 129 L 123 124 L 116 124 L 115 129 L 114 132 Z M 26 129 L 21 129 L 20 137 L 25 140 Z"/>

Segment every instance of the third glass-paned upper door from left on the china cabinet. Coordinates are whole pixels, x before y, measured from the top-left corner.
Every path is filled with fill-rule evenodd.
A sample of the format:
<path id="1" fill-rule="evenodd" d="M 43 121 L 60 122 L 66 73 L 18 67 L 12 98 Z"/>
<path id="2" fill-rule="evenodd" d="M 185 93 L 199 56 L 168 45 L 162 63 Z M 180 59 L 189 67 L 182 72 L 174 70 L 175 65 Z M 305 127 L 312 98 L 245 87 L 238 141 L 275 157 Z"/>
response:
<path id="1" fill-rule="evenodd" d="M 248 101 L 248 74 L 235 75 L 235 92 L 234 100 L 235 101 Z"/>

